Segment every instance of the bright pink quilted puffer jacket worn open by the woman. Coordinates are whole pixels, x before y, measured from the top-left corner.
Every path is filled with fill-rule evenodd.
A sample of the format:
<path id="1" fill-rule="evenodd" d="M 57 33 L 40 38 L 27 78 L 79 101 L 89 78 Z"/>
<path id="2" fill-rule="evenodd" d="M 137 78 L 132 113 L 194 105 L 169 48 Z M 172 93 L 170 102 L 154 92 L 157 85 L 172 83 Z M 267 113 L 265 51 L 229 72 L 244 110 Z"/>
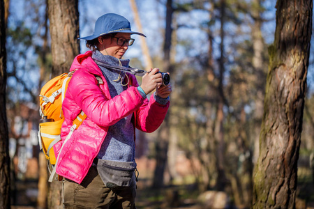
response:
<path id="1" fill-rule="evenodd" d="M 65 121 L 61 128 L 61 141 L 54 145 L 59 156 L 56 172 L 65 178 L 81 183 L 87 175 L 94 158 L 107 134 L 108 127 L 129 114 L 135 114 L 135 127 L 143 132 L 154 132 L 163 122 L 170 102 L 159 104 L 151 98 L 142 98 L 137 90 L 137 80 L 128 74 L 130 84 L 126 91 L 113 99 L 105 77 L 98 65 L 91 59 L 92 52 L 75 57 L 70 71 L 76 70 L 68 85 L 62 108 Z M 95 75 L 103 79 L 98 86 Z M 63 140 L 80 111 L 87 114 L 82 125 L 73 132 L 59 153 Z"/>

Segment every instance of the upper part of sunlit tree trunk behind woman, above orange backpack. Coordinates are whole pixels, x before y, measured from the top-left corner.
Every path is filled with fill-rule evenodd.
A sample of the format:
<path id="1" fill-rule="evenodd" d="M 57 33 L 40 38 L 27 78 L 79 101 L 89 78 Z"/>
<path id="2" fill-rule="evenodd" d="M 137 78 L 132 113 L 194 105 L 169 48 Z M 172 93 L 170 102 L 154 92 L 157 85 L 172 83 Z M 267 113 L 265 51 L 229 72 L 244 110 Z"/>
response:
<path id="1" fill-rule="evenodd" d="M 52 77 L 68 72 L 80 53 L 78 0 L 48 0 L 52 49 Z"/>

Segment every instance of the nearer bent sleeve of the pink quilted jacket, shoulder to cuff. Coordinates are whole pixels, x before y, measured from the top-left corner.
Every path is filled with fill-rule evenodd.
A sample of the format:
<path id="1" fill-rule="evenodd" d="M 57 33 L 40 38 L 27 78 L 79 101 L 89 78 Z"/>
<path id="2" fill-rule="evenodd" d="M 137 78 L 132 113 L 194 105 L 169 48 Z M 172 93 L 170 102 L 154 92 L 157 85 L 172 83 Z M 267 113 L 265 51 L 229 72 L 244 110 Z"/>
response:
<path id="1" fill-rule="evenodd" d="M 87 117 L 100 126 L 110 126 L 117 123 L 121 118 L 139 109 L 144 103 L 144 98 L 134 86 L 123 91 L 120 95 L 110 98 L 109 92 L 105 95 L 97 86 L 96 77 L 85 70 L 75 72 L 69 83 L 67 93 L 70 94 L 68 96 L 73 98 L 78 107 L 87 114 Z"/>

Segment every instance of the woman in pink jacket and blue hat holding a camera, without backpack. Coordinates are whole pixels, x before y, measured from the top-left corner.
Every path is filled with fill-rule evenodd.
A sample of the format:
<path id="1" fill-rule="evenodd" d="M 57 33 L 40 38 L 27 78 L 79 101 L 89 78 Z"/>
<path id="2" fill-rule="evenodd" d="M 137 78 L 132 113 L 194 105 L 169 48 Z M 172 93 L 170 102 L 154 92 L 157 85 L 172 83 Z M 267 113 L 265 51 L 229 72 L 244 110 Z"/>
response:
<path id="1" fill-rule="evenodd" d="M 93 35 L 81 38 L 91 51 L 78 55 L 70 68 L 75 73 L 63 100 L 61 139 L 80 111 L 87 118 L 62 149 L 63 141 L 54 146 L 65 208 L 135 208 L 135 127 L 154 132 L 160 126 L 172 89 L 162 86 L 158 68 L 139 86 L 134 75 L 101 65 L 128 67 L 122 57 L 134 42 L 132 34 L 144 36 L 110 13 L 98 18 Z"/>

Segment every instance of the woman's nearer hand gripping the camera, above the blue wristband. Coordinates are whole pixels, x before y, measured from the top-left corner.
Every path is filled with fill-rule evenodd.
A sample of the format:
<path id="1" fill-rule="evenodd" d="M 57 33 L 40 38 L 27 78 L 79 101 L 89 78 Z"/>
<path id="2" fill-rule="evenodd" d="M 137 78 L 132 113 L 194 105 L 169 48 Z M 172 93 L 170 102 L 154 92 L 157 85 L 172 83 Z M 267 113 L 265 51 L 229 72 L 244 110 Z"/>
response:
<path id="1" fill-rule="evenodd" d="M 151 91 L 154 91 L 155 88 L 157 89 L 163 84 L 161 73 L 156 72 L 159 72 L 158 68 L 154 68 L 151 72 L 147 72 L 147 74 L 142 77 L 141 88 L 146 94 L 151 93 Z"/>

